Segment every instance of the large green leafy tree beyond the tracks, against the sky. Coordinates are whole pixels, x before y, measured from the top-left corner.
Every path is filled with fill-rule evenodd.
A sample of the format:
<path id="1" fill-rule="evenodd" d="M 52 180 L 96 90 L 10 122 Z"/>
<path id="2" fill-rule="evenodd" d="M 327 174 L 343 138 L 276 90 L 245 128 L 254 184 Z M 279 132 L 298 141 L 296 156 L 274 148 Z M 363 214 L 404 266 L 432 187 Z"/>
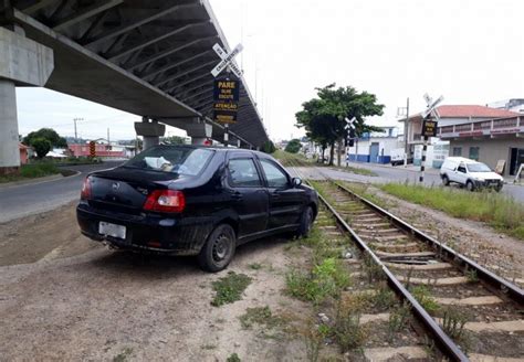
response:
<path id="1" fill-rule="evenodd" d="M 379 130 L 365 124 L 365 117 L 381 116 L 384 105 L 377 104 L 377 97 L 367 92 L 357 92 L 354 87 L 338 87 L 329 84 L 316 88 L 317 97 L 302 104 L 297 111 L 296 126 L 306 130 L 306 136 L 321 145 L 324 150 L 329 146 L 329 164 L 333 164 L 335 145 L 342 146 L 347 136 L 345 118 L 355 117 L 356 136 L 364 132 Z M 340 148 L 339 148 L 340 149 Z M 340 164 L 340 152 L 338 152 Z"/>

